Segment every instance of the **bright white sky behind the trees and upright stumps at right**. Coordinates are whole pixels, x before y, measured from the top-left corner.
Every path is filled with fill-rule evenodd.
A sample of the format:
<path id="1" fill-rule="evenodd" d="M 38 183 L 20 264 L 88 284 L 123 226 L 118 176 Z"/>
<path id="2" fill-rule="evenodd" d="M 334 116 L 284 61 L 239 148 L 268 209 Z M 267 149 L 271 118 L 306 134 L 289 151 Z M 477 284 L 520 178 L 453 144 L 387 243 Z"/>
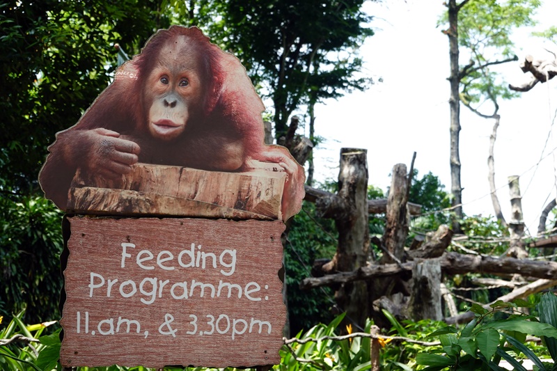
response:
<path id="1" fill-rule="evenodd" d="M 441 0 L 392 0 L 368 2 L 365 10 L 375 17 L 371 23 L 375 35 L 361 48 L 363 72 L 376 83 L 365 92 L 315 107 L 315 131 L 326 140 L 315 149 L 315 178 L 338 177 L 340 148 L 365 148 L 369 184 L 385 191 L 393 166 L 402 163 L 409 168 L 416 152 L 418 177 L 431 171 L 450 192 L 448 37 L 436 28 L 446 8 Z M 519 61 L 528 54 L 552 57 L 544 48 L 557 52 L 557 45 L 531 36 L 532 31 L 551 26 L 555 14 L 557 1 L 544 0 L 536 16 L 540 25 L 513 35 Z M 512 84 L 530 78 L 520 70 L 518 61 L 499 71 Z M 552 151 L 557 147 L 557 132 L 555 139 L 550 136 L 557 107 L 556 84 L 557 79 L 550 80 L 517 99 L 500 102 L 501 123 L 494 150 L 497 196 L 509 221 L 507 178 L 520 176 L 524 222 L 533 236 L 544 206 L 556 197 L 557 160 Z M 468 215 L 494 214 L 487 181 L 493 124 L 461 106 L 462 198 Z"/>

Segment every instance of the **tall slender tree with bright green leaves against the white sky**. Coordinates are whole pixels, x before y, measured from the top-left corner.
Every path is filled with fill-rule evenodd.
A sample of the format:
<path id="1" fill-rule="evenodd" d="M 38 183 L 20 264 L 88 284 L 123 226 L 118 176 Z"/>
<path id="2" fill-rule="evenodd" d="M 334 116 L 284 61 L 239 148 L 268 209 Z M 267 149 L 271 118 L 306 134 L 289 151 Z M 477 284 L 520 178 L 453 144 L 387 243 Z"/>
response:
<path id="1" fill-rule="evenodd" d="M 540 6 L 540 1 L 462 0 L 457 3 L 457 0 L 448 0 L 446 6 L 448 10 L 441 22 L 448 23 L 448 29 L 444 33 L 448 36 L 450 56 L 450 178 L 456 214 L 453 229 L 460 231 L 460 102 L 465 102 L 467 107 L 482 117 L 499 120 L 496 97 L 508 98 L 512 94 L 507 87 L 496 81 L 496 73 L 489 68 L 516 61 L 516 56 L 511 51 L 510 35 L 517 27 L 533 24 L 531 16 Z M 470 58 L 469 63 L 464 66 L 459 63 L 461 47 Z M 487 115 L 474 108 L 473 104 L 483 100 L 490 100 L 494 104 L 494 113 Z"/>

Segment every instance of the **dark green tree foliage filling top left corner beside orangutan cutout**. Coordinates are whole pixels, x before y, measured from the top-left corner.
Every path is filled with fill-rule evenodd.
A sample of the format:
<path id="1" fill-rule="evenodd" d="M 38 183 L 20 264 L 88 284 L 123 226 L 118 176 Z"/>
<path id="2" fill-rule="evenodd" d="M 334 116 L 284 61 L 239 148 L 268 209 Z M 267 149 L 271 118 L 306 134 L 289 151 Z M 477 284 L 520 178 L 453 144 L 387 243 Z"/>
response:
<path id="1" fill-rule="evenodd" d="M 112 47 L 137 49 L 164 22 L 149 1 L 10 1 L 0 6 L 0 184 L 38 192 L 54 134 L 77 122 L 110 80 Z M 15 161 L 17 159 L 17 161 Z"/>

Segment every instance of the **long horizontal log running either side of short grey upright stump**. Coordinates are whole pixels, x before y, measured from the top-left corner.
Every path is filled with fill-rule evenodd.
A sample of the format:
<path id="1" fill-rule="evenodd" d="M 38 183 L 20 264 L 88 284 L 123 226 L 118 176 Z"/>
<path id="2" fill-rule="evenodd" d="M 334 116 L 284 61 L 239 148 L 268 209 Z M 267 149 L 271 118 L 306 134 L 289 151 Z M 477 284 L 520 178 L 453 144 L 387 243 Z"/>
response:
<path id="1" fill-rule="evenodd" d="M 440 262 L 441 271 L 444 274 L 464 274 L 469 272 L 499 276 L 521 274 L 522 276 L 547 279 L 557 276 L 557 262 L 550 261 L 445 253 L 441 257 Z M 413 262 L 402 263 L 402 265 L 370 265 L 351 272 L 331 274 L 320 278 L 305 278 L 304 281 L 301 281 L 300 287 L 305 290 L 338 283 L 393 276 L 403 271 L 411 271 L 413 266 Z"/>

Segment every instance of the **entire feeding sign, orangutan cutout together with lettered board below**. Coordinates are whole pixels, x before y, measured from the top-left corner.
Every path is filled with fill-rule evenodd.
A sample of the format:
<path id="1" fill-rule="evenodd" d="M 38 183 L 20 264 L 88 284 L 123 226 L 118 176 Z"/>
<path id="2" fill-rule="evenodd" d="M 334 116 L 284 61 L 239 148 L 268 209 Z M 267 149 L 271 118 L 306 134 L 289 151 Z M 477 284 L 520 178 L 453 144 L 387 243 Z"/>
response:
<path id="1" fill-rule="evenodd" d="M 235 56 L 171 26 L 56 134 L 40 186 L 82 215 L 64 231 L 64 367 L 280 361 L 281 233 L 305 174 L 264 143 L 264 110 Z"/>

